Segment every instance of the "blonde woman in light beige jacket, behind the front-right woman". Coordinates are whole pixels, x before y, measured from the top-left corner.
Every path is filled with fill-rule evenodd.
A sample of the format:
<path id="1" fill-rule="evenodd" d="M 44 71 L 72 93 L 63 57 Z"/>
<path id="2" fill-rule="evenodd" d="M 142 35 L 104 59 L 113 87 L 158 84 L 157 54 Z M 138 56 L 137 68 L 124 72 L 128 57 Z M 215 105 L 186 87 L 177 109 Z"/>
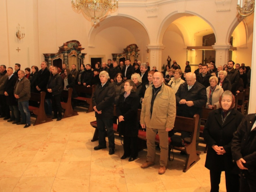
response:
<path id="1" fill-rule="evenodd" d="M 209 79 L 210 86 L 206 88 L 207 94 L 207 103 L 206 108 L 212 109 L 214 106 L 217 106 L 217 109 L 220 108 L 219 99 L 221 94 L 223 93 L 223 89 L 218 86 L 218 78 L 216 76 L 212 76 Z"/>

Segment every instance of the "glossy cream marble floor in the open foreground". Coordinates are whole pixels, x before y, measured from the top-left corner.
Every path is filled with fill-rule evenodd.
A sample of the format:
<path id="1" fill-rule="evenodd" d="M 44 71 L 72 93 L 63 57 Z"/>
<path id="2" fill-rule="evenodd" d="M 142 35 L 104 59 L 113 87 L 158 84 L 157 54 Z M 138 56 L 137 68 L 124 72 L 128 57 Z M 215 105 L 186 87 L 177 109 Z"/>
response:
<path id="1" fill-rule="evenodd" d="M 73 192 L 73 191 L 210 191 L 209 171 L 204 167 L 206 155 L 186 173 L 184 156 L 175 153 L 166 173 L 158 174 L 156 164 L 142 169 L 146 150 L 133 162 L 121 160 L 122 144 L 115 137 L 116 151 L 94 151 L 91 142 L 94 113 L 30 126 L 13 125 L 0 119 L 0 191 Z M 32 118 L 32 123 L 34 119 Z M 201 151 L 204 144 L 201 145 Z M 220 191 L 225 189 L 222 174 Z"/>

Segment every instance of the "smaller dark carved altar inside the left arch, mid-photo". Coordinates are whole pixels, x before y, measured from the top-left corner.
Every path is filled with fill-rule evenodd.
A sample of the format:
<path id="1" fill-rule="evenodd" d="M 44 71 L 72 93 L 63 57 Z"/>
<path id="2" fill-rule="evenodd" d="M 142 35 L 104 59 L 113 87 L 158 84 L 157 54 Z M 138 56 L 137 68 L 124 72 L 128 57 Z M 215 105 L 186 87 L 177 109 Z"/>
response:
<path id="1" fill-rule="evenodd" d="M 138 58 L 140 50 L 136 44 L 131 44 L 123 49 L 122 53 L 112 53 L 113 60 L 116 60 L 118 63 L 126 59 L 131 59 L 131 63 L 134 63 L 134 60 Z"/>

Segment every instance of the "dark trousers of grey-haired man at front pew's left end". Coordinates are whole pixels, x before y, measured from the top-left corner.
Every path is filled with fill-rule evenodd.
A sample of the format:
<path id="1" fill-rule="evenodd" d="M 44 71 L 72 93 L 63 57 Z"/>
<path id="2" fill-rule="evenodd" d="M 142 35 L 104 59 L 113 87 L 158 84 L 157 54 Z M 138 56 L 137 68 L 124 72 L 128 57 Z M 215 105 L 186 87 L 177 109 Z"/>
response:
<path id="1" fill-rule="evenodd" d="M 105 133 L 109 138 L 109 148 L 115 149 L 115 136 L 113 131 L 113 118 L 96 118 L 97 129 L 99 130 L 99 146 L 105 147 Z M 105 132 L 106 129 L 106 132 Z"/>

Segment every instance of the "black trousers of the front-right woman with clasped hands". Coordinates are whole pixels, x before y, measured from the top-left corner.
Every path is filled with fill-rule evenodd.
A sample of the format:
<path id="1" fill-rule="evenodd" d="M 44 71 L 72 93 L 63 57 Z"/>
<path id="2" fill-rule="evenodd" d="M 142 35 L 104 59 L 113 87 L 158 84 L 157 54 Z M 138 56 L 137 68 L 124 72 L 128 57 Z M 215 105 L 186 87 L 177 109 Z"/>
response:
<path id="1" fill-rule="evenodd" d="M 227 192 L 239 192 L 239 175 L 225 172 Z M 219 192 L 221 172 L 210 170 L 210 192 Z"/>

